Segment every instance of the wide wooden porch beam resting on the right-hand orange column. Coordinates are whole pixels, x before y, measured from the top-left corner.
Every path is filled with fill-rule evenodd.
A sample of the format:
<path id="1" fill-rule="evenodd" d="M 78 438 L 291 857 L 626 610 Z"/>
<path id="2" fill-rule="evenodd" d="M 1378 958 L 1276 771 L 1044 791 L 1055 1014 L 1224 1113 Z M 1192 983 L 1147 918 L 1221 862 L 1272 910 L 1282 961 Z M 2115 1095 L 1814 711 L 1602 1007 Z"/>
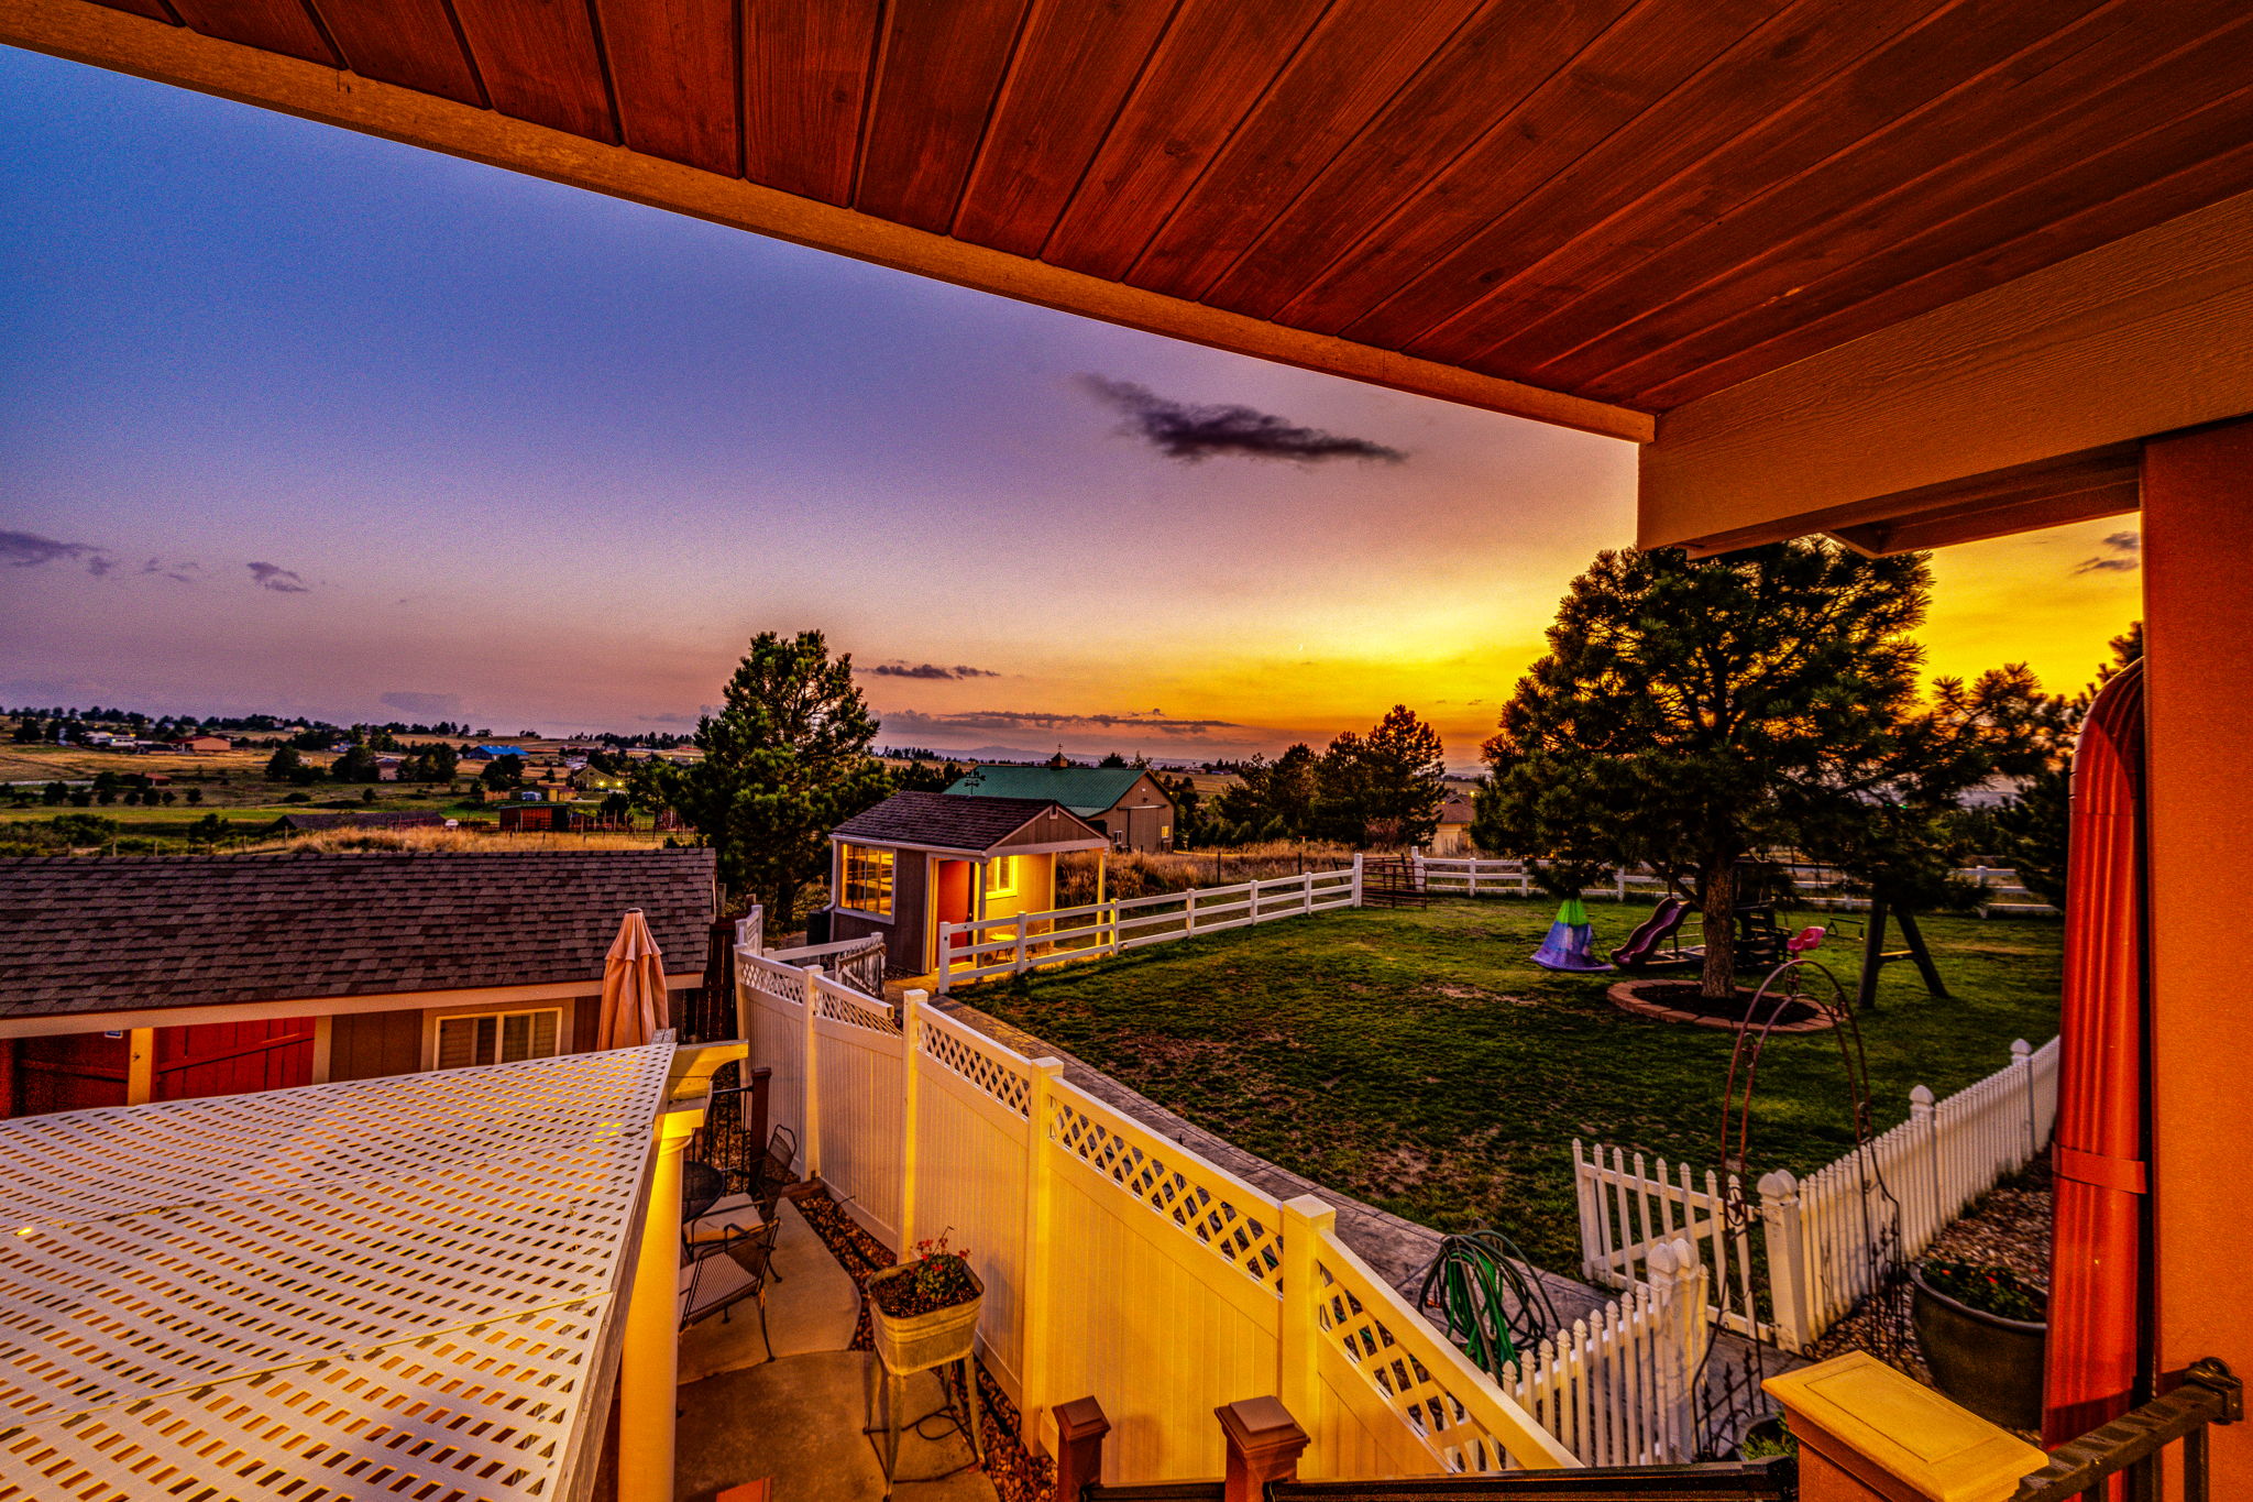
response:
<path id="1" fill-rule="evenodd" d="M 1642 450 L 1638 540 L 1931 522 L 1935 486 L 2246 412 L 2253 194 L 1674 408 Z M 1960 502 L 1985 504 L 1978 484 Z"/>

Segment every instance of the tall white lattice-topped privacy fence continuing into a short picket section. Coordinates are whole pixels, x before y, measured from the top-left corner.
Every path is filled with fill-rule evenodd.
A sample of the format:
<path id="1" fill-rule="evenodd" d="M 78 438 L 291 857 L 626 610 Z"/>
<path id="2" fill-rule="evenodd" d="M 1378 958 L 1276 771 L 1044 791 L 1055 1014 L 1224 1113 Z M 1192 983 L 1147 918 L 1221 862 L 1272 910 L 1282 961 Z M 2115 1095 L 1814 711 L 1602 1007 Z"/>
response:
<path id="1" fill-rule="evenodd" d="M 894 1011 L 750 948 L 737 975 L 802 1171 L 894 1248 L 944 1232 L 969 1252 L 987 1367 L 1027 1434 L 1095 1394 L 1106 1482 L 1217 1475 L 1212 1410 L 1257 1394 L 1313 1437 L 1304 1475 L 1687 1459 L 1706 1302 L 1687 1248 L 1496 1385 L 1338 1241 L 1323 1200 L 1277 1203 L 919 991 Z"/>

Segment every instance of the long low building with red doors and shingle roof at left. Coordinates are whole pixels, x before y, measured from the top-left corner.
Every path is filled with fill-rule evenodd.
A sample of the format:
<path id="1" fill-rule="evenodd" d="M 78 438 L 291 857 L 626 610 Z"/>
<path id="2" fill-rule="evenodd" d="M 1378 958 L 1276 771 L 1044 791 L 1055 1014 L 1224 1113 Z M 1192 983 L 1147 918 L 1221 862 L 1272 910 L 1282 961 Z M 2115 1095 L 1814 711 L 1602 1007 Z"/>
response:
<path id="1" fill-rule="evenodd" d="M 624 912 L 678 993 L 712 880 L 707 849 L 0 858 L 0 1112 L 584 1054 Z"/>

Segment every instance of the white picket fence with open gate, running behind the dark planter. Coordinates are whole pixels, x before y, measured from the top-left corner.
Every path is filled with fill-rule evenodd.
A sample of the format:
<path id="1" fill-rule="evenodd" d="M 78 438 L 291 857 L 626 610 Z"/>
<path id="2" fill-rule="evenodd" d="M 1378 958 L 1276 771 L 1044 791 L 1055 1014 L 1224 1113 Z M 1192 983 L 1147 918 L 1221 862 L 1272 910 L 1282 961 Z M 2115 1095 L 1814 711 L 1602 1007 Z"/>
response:
<path id="1" fill-rule="evenodd" d="M 1651 1252 L 1697 1241 L 1710 1261 L 1708 1313 L 1728 1329 L 1809 1349 L 1872 1293 L 1895 1261 L 1920 1257 L 1971 1200 L 2034 1162 L 2057 1124 L 2057 1038 L 2010 1045 L 2010 1065 L 1935 1101 L 1917 1085 L 1908 1119 L 1809 1173 L 1775 1171 L 1748 1191 L 1737 1175 L 1573 1142 L 1582 1272 L 1629 1288 Z M 1730 1230 L 1726 1205 L 1742 1200 Z M 1760 1266 L 1751 1223 L 1760 1223 Z M 1757 1295 L 1766 1295 L 1766 1299 Z M 1766 1308 L 1762 1308 L 1766 1304 Z"/>

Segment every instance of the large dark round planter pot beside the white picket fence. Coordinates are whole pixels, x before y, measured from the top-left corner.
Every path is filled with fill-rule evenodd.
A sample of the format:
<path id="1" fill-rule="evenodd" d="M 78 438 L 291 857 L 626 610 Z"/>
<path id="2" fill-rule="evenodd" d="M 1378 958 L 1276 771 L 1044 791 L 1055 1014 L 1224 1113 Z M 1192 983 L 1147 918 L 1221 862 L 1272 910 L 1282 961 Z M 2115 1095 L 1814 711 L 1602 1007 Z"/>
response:
<path id="1" fill-rule="evenodd" d="M 1989 1423 L 2041 1428 L 2050 1295 L 2007 1268 L 1933 1257 L 1908 1270 L 1933 1383 Z"/>

